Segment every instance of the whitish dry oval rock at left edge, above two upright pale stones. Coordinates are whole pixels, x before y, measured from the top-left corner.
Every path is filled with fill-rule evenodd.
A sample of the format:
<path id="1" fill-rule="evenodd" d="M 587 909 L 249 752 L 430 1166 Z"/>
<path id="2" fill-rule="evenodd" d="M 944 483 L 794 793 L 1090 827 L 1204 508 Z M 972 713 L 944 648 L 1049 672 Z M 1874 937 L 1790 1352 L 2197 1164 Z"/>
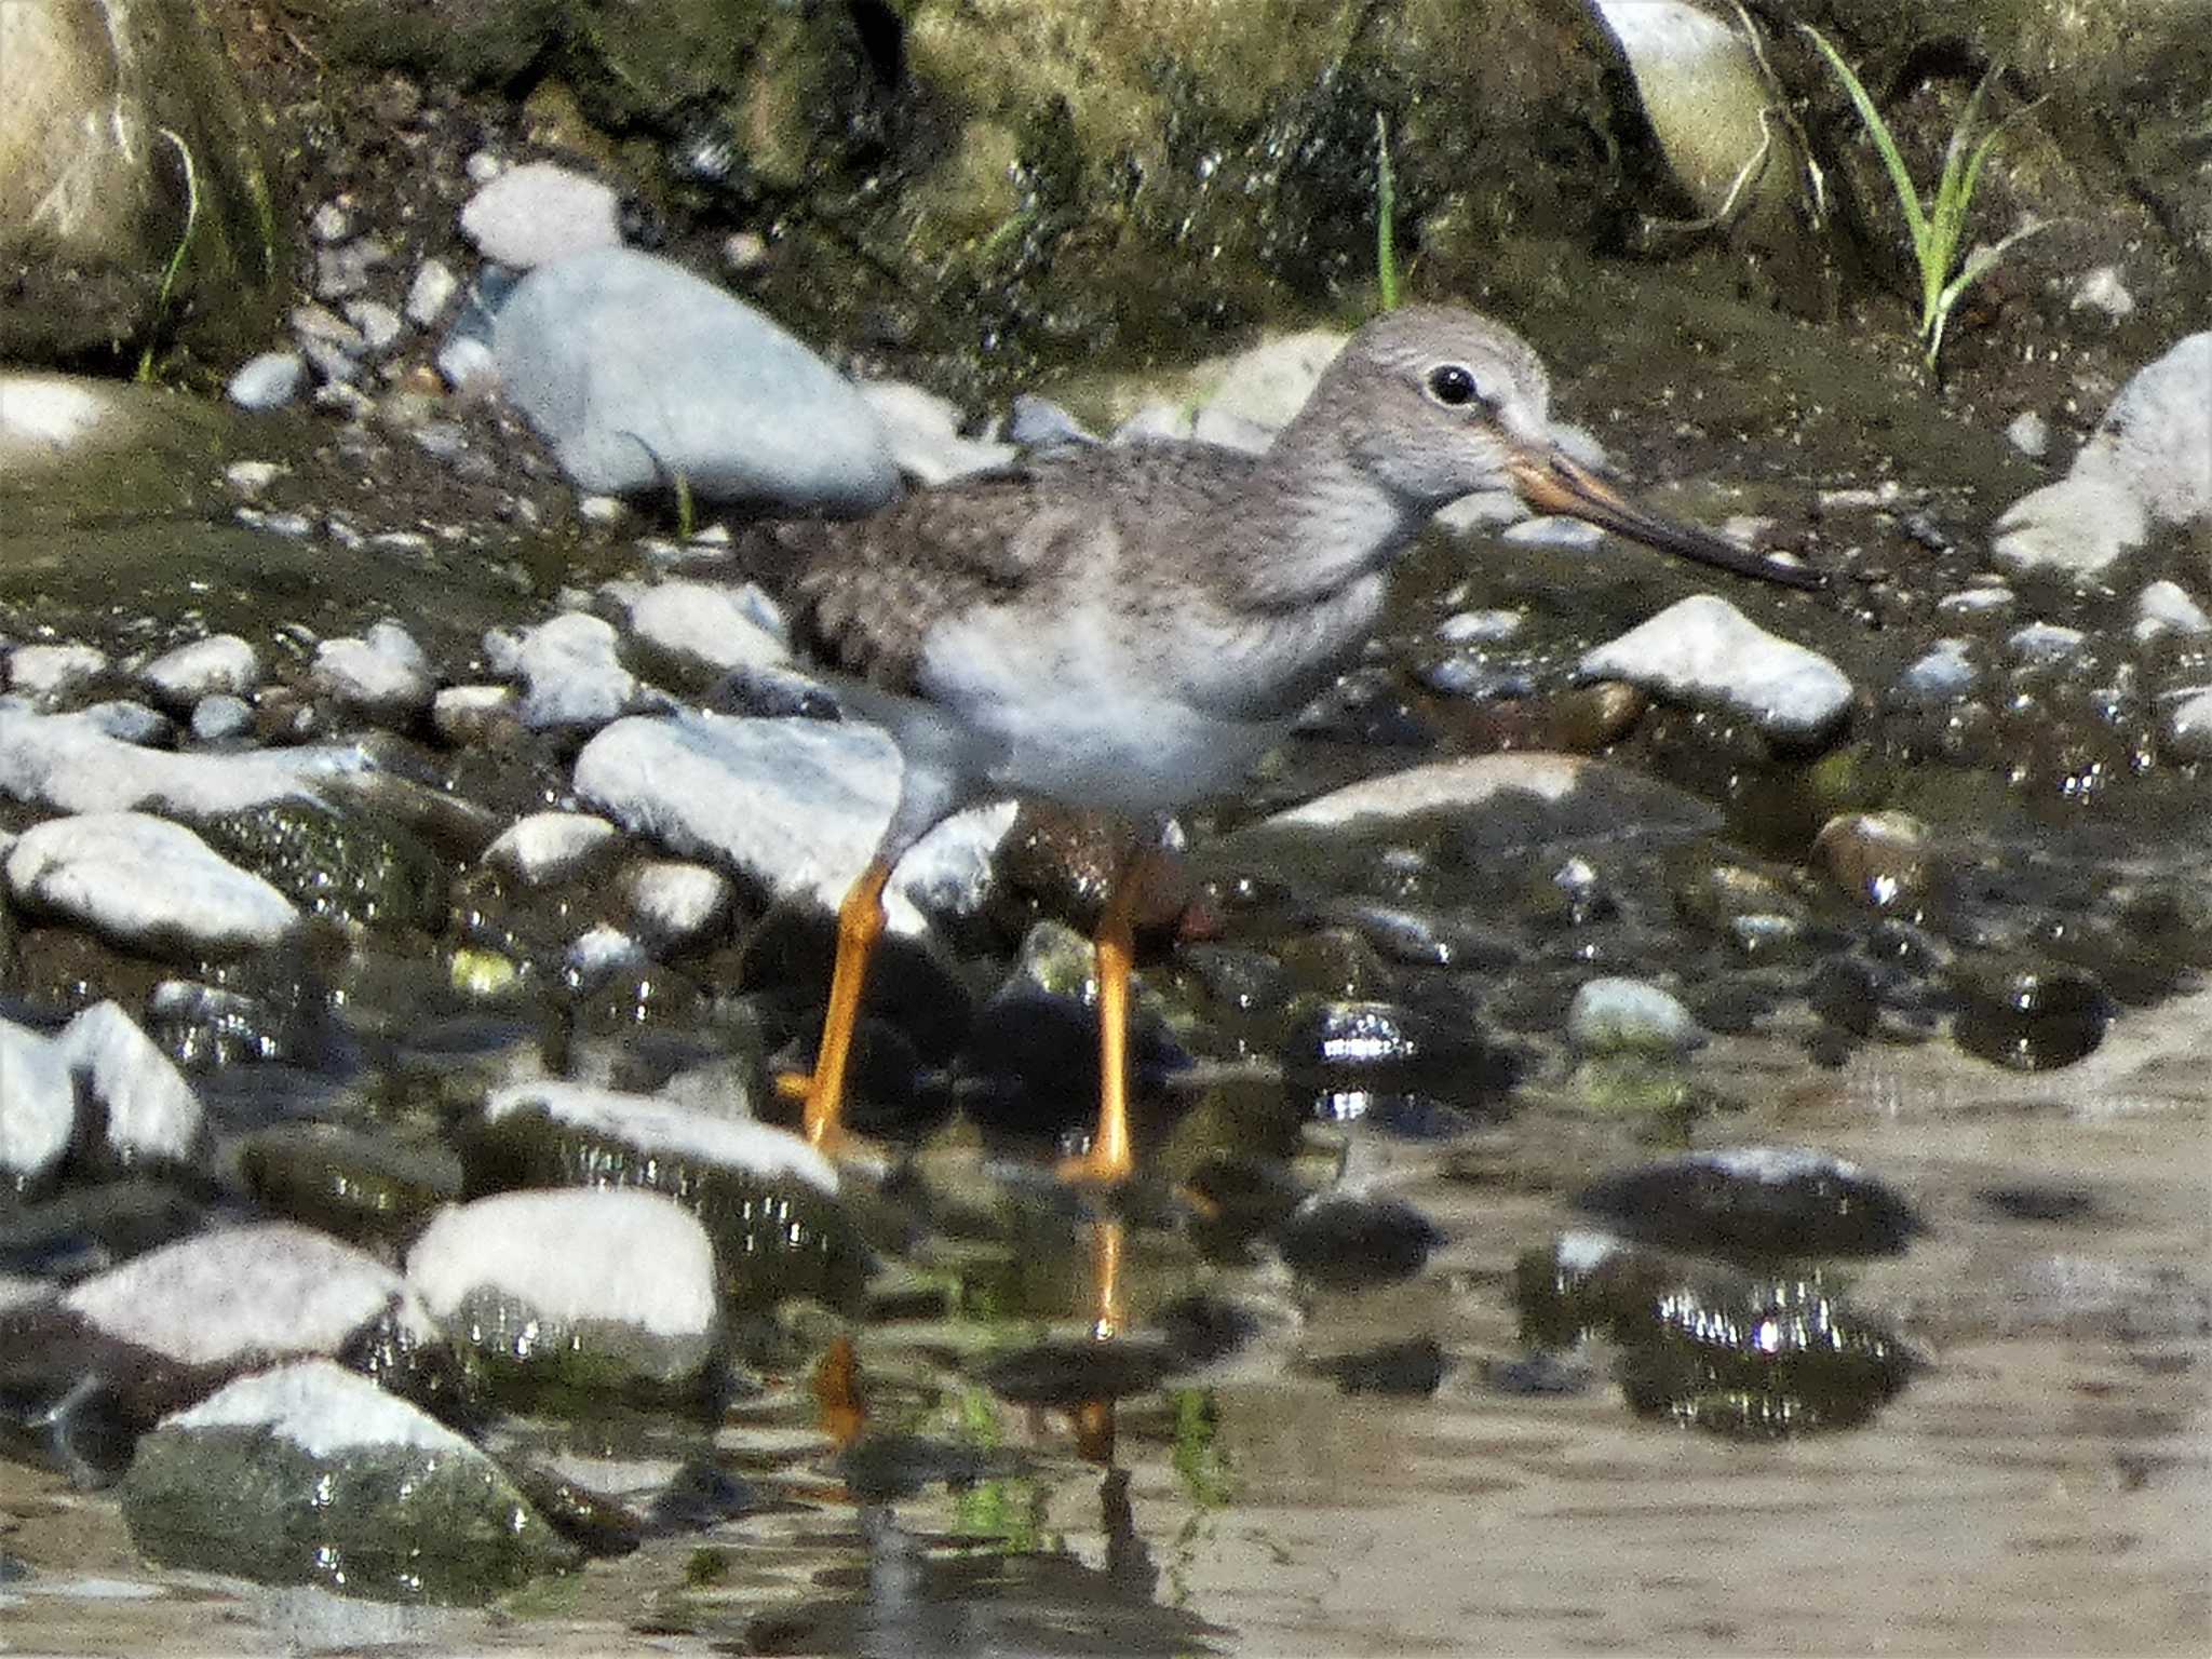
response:
<path id="1" fill-rule="evenodd" d="M 144 812 L 82 812 L 33 825 L 7 854 L 15 902 L 128 949 L 199 960 L 276 945 L 292 902 L 181 823 Z"/>

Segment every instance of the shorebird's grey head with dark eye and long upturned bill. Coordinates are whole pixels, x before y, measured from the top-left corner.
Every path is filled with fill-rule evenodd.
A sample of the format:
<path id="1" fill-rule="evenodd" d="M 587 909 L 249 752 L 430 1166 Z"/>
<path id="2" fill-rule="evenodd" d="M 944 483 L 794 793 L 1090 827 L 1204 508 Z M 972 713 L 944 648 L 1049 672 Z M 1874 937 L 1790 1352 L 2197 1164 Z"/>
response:
<path id="1" fill-rule="evenodd" d="M 1763 582 L 1825 577 L 1644 511 L 1551 436 L 1551 380 L 1513 330 L 1451 305 L 1407 305 L 1347 341 L 1298 425 L 1325 422 L 1374 484 L 1427 518 L 1478 491 L 1513 491 L 1630 540 Z"/>

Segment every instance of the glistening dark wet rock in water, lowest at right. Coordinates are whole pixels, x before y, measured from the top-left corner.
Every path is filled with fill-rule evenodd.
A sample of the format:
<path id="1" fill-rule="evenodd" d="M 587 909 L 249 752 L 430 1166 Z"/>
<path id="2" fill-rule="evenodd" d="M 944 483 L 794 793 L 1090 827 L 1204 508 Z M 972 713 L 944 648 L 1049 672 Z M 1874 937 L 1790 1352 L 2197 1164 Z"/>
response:
<path id="1" fill-rule="evenodd" d="M 1628 1407 L 1730 1438 L 1869 1422 L 1924 1363 L 1818 1276 L 1688 1265 L 1595 1234 L 1520 1259 L 1522 1336 L 1604 1334 Z"/>

